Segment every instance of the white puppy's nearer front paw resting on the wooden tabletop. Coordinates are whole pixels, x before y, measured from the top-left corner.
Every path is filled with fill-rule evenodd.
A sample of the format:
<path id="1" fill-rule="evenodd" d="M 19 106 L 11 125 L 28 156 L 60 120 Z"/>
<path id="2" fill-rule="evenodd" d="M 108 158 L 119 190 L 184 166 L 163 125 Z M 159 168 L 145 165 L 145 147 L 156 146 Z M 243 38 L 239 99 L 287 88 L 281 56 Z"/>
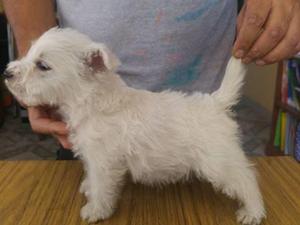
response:
<path id="1" fill-rule="evenodd" d="M 92 203 L 87 203 L 81 208 L 80 216 L 88 223 L 94 223 L 98 220 L 104 220 L 109 218 L 113 214 L 112 208 L 104 209 Z"/>

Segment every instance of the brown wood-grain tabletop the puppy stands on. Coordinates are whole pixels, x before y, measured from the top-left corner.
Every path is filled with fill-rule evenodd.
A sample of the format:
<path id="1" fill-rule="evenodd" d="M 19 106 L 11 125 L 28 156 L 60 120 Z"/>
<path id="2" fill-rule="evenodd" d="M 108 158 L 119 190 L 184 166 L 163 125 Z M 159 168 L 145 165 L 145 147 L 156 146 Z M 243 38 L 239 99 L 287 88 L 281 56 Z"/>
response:
<path id="1" fill-rule="evenodd" d="M 252 159 L 268 218 L 262 224 L 300 224 L 300 164 L 289 157 Z M 0 161 L 1 225 L 79 225 L 78 161 Z M 119 209 L 105 225 L 234 225 L 237 203 L 205 182 L 150 188 L 128 182 Z"/>

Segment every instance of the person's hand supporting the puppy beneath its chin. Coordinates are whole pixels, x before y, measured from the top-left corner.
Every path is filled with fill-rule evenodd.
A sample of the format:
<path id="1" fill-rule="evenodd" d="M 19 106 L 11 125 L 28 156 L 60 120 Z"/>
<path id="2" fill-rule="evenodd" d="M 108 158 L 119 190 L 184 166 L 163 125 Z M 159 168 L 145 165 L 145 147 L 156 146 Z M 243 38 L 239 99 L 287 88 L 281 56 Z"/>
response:
<path id="1" fill-rule="evenodd" d="M 71 149 L 68 141 L 68 129 L 54 113 L 53 108 L 46 106 L 29 107 L 28 117 L 34 132 L 53 135 L 65 149 Z"/>

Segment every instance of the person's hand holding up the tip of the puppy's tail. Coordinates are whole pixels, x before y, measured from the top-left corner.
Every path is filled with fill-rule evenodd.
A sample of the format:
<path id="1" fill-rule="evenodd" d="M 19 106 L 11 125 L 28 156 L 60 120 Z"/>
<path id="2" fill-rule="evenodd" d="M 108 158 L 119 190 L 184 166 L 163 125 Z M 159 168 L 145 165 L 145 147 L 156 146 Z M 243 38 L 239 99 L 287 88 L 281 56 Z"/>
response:
<path id="1" fill-rule="evenodd" d="M 233 54 L 244 63 L 275 63 L 300 51 L 300 0 L 246 0 Z"/>

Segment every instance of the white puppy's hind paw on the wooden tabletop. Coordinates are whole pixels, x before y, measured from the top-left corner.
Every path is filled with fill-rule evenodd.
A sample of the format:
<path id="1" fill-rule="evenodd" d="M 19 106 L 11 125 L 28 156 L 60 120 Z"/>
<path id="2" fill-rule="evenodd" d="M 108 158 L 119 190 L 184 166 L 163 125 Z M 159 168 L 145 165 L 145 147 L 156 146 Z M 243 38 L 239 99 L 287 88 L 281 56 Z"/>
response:
<path id="1" fill-rule="evenodd" d="M 251 213 L 246 208 L 240 208 L 237 212 L 237 221 L 243 225 L 258 225 L 261 223 L 261 220 L 265 218 L 265 212 Z"/>

